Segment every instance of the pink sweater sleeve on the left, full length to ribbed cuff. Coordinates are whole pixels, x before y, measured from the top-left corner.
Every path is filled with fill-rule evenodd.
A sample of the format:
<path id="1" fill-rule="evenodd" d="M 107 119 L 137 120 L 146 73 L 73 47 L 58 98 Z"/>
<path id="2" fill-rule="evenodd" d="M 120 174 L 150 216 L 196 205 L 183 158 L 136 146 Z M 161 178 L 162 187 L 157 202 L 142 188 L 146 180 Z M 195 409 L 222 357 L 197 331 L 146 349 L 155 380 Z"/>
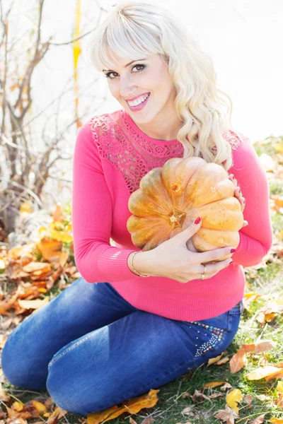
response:
<path id="1" fill-rule="evenodd" d="M 73 158 L 72 225 L 76 267 L 88 283 L 139 280 L 127 266 L 137 249 L 110 245 L 112 199 L 103 174 L 91 122 L 76 136 Z"/>

